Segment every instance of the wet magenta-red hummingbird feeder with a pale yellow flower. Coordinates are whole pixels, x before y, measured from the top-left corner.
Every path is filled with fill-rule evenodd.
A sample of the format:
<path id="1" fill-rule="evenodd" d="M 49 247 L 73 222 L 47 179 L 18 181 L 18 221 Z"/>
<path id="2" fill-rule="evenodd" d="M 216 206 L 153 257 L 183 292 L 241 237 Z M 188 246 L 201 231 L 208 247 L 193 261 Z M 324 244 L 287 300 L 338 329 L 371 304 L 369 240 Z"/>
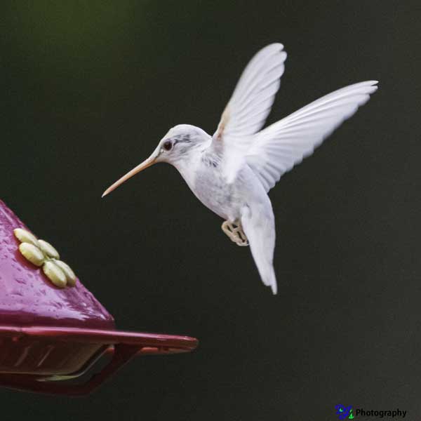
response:
<path id="1" fill-rule="evenodd" d="M 135 355 L 189 352 L 197 343 L 116 330 L 58 251 L 0 201 L 0 386 L 88 394 Z M 100 359 L 108 363 L 92 375 Z"/>

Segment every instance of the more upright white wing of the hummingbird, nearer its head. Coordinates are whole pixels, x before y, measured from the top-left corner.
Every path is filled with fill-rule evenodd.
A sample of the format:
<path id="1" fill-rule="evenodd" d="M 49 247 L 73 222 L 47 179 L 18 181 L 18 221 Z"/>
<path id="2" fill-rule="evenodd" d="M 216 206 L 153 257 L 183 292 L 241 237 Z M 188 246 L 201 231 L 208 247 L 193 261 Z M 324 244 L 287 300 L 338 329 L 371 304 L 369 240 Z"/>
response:
<path id="1" fill-rule="evenodd" d="M 223 151 L 224 171 L 235 177 L 253 141 L 265 124 L 283 74 L 286 52 L 282 44 L 262 48 L 248 63 L 222 113 L 210 148 Z"/>

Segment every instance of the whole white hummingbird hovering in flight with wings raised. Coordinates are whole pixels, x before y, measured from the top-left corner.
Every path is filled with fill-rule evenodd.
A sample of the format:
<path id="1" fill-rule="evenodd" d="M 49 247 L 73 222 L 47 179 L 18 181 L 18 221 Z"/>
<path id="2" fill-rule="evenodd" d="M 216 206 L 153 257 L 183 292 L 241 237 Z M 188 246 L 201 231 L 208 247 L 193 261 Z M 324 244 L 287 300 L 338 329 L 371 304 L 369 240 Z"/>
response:
<path id="1" fill-rule="evenodd" d="M 377 90 L 377 81 L 345 86 L 262 130 L 285 60 L 282 44 L 262 48 L 243 70 L 212 136 L 189 124 L 171 128 L 148 159 L 102 194 L 154 163 L 171 163 L 199 201 L 224 220 L 229 239 L 250 245 L 260 278 L 274 294 L 276 233 L 269 190 Z"/>

